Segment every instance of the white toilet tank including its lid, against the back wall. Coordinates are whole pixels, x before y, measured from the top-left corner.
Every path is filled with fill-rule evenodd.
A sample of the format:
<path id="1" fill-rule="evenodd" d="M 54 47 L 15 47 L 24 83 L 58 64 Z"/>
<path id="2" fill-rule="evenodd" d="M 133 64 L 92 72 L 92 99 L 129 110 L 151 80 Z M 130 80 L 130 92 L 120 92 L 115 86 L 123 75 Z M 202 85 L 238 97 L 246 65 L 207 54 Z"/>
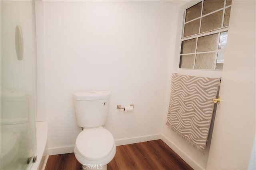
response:
<path id="1" fill-rule="evenodd" d="M 79 127 L 98 127 L 106 123 L 110 91 L 81 91 L 73 96 Z"/>

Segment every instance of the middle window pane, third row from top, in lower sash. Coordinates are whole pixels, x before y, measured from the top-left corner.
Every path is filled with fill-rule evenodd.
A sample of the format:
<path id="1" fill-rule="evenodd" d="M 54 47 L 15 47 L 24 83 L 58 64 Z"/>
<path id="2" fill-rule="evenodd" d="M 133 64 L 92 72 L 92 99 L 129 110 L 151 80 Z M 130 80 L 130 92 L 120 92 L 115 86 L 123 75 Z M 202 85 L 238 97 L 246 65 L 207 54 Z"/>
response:
<path id="1" fill-rule="evenodd" d="M 196 52 L 214 51 L 217 49 L 218 33 L 198 38 Z"/>

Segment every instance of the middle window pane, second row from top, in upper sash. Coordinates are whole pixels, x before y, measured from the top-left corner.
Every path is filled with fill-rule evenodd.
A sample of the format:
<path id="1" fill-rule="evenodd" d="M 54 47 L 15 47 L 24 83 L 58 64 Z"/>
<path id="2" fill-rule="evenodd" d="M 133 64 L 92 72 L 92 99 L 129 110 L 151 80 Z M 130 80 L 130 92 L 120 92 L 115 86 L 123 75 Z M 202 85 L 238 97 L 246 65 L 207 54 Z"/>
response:
<path id="1" fill-rule="evenodd" d="M 223 10 L 202 18 L 201 32 L 221 28 Z"/>

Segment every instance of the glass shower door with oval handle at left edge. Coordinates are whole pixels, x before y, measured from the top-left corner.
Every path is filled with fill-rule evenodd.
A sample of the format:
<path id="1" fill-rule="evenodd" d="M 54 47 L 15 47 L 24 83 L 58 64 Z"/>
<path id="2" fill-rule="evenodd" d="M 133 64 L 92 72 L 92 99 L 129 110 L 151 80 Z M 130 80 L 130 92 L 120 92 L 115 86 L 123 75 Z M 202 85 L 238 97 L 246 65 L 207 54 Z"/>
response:
<path id="1" fill-rule="evenodd" d="M 1 170 L 30 169 L 36 156 L 33 1 L 0 1 Z"/>

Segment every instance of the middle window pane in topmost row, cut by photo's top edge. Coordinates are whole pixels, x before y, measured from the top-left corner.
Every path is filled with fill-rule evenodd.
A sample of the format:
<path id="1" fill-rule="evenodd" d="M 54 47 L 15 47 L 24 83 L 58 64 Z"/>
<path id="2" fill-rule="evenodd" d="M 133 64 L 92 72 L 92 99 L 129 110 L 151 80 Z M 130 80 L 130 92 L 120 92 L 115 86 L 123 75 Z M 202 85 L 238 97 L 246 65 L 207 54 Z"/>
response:
<path id="1" fill-rule="evenodd" d="M 224 0 L 205 0 L 203 15 L 224 7 Z"/>

